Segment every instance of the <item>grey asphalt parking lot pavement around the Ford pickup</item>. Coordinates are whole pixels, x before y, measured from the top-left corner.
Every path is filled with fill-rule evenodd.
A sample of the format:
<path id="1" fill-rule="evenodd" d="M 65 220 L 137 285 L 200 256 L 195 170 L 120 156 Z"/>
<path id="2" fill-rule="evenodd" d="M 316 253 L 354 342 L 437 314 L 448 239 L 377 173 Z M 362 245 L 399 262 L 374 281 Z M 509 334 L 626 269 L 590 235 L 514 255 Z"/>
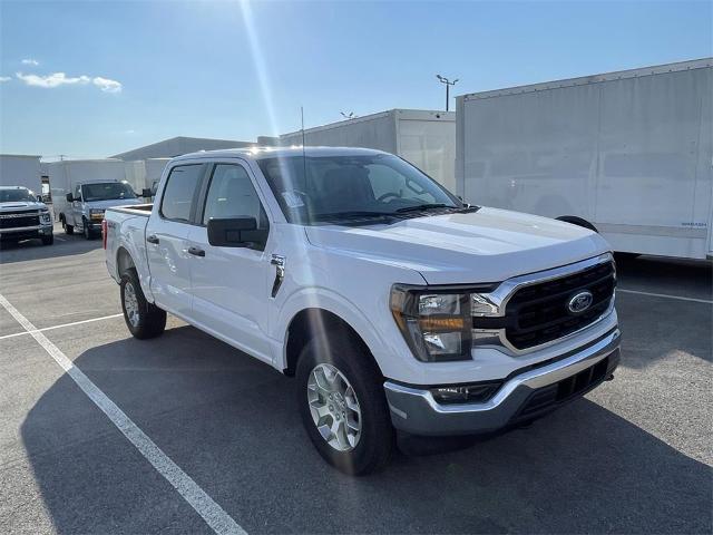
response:
<path id="1" fill-rule="evenodd" d="M 48 347 L 248 534 L 713 532 L 709 262 L 619 262 L 614 381 L 352 478 L 310 444 L 290 378 L 170 317 L 134 340 L 100 240 L 57 236 L 0 250 L 0 295 L 49 341 L 0 308 L 0 533 L 214 531 Z"/>

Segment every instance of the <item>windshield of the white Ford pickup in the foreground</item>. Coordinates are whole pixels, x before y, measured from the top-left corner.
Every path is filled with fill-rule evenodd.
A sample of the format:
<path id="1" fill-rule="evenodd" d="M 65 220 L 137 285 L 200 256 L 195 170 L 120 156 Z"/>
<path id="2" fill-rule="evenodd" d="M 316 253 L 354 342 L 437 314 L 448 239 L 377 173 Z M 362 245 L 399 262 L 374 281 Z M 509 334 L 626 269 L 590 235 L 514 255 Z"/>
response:
<path id="1" fill-rule="evenodd" d="M 462 206 L 439 184 L 392 155 L 307 157 L 306 162 L 290 156 L 257 164 L 291 223 L 385 218 Z"/>

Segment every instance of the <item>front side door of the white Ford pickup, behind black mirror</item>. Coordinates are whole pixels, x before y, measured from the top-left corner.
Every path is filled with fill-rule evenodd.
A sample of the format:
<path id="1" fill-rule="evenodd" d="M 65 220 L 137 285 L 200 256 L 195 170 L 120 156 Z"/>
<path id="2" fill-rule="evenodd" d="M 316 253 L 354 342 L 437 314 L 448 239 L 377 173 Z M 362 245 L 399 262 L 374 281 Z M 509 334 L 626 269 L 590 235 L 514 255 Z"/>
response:
<path id="1" fill-rule="evenodd" d="M 193 317 L 205 330 L 270 362 L 267 309 L 274 280 L 270 237 L 263 250 L 213 246 L 207 234 L 211 218 L 254 217 L 258 228 L 270 227 L 252 172 L 240 163 L 215 164 L 198 214 L 201 224 L 189 240 Z"/>

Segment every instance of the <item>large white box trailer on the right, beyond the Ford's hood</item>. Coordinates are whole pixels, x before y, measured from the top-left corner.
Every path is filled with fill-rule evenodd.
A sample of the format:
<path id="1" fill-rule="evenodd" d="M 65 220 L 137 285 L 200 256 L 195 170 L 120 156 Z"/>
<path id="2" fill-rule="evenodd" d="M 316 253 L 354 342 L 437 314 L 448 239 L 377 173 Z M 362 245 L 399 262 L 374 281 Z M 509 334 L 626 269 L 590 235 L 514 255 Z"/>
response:
<path id="1" fill-rule="evenodd" d="M 713 59 L 457 97 L 458 194 L 589 224 L 615 251 L 704 259 Z"/>

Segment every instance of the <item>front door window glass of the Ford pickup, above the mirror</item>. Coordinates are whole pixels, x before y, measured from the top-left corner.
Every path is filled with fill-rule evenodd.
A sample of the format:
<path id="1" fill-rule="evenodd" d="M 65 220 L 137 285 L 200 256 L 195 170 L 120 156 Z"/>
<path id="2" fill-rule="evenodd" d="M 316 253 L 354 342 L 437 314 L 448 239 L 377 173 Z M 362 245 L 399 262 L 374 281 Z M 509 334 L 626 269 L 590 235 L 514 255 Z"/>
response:
<path id="1" fill-rule="evenodd" d="M 217 164 L 205 201 L 203 224 L 208 220 L 254 217 L 257 228 L 267 228 L 267 216 L 247 172 L 241 165 Z"/>

